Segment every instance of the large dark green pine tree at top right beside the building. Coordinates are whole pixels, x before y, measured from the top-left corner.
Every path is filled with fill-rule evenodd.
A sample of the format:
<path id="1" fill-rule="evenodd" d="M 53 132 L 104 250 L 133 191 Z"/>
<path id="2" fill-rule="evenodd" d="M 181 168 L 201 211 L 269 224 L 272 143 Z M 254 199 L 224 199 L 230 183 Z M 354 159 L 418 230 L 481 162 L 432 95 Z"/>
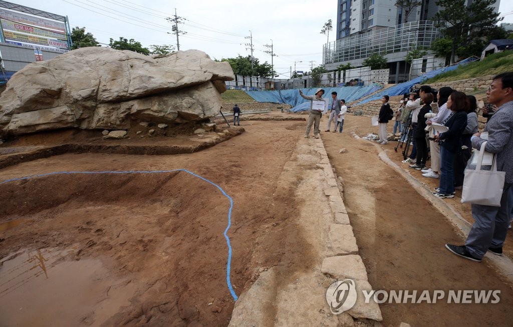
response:
<path id="1" fill-rule="evenodd" d="M 466 0 L 438 0 L 435 4 L 443 7 L 435 20 L 442 34 L 452 40 L 450 62 L 456 62 L 456 55 L 472 55 L 474 39 L 482 39 L 502 20 L 491 7 L 496 0 L 475 0 L 468 6 Z M 469 52 L 470 51 L 470 52 Z"/>

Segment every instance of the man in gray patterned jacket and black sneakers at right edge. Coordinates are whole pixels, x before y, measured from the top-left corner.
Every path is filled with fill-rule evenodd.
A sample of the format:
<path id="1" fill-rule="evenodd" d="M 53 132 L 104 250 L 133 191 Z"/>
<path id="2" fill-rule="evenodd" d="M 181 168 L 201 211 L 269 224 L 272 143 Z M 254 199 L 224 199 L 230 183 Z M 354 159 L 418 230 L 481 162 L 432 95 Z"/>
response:
<path id="1" fill-rule="evenodd" d="M 472 216 L 475 223 L 468 233 L 465 245 L 445 244 L 445 247 L 453 254 L 478 262 L 483 259 L 486 251 L 498 256 L 502 255 L 502 246 L 508 230 L 511 211 L 508 196 L 513 184 L 513 72 L 495 76 L 486 92 L 486 99 L 488 103 L 494 104 L 498 108 L 483 132 L 488 132 L 486 151 L 496 153 L 497 170 L 506 172 L 501 206 L 472 204 Z M 476 149 L 480 149 L 481 144 L 486 141 L 481 138 L 479 132 L 473 134 L 470 140 L 472 147 Z M 489 170 L 490 166 L 487 167 Z"/>

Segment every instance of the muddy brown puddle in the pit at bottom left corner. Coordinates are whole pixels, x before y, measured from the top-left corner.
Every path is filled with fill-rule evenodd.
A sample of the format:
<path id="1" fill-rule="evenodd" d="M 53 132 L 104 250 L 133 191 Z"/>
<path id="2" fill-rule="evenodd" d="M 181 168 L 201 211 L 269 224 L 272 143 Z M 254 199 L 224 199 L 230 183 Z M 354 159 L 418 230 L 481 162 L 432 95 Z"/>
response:
<path id="1" fill-rule="evenodd" d="M 112 279 L 99 259 L 42 248 L 0 259 L 0 325 L 99 325 L 129 305 L 135 285 Z"/>

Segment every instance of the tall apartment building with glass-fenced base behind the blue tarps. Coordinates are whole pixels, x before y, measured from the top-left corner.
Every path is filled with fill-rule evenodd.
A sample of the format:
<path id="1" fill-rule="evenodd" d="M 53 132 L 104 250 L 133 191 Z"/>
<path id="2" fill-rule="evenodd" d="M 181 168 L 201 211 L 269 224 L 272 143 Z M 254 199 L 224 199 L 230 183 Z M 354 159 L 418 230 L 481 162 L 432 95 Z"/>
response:
<path id="1" fill-rule="evenodd" d="M 440 10 L 437 0 L 422 0 L 405 17 L 396 0 L 337 0 L 337 40 L 323 47 L 328 71 L 340 64 L 358 67 L 372 53 L 386 53 L 389 83 L 406 81 L 409 65 L 404 57 L 417 47 L 429 48 L 440 36 L 430 19 Z M 467 5 L 475 0 L 466 0 Z M 500 0 L 494 4 L 498 11 Z M 432 55 L 431 55 L 432 57 Z"/>

